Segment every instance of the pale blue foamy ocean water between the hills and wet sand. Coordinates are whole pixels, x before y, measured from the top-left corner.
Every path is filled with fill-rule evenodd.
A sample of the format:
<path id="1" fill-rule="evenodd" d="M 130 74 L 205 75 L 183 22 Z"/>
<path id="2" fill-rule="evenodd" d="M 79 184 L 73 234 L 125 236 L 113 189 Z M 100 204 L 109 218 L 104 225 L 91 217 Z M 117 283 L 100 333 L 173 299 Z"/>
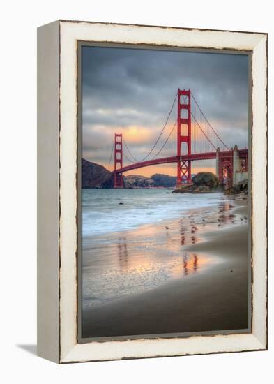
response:
<path id="1" fill-rule="evenodd" d="M 82 189 L 82 238 L 175 219 L 190 209 L 218 205 L 222 196 L 169 189 Z"/>

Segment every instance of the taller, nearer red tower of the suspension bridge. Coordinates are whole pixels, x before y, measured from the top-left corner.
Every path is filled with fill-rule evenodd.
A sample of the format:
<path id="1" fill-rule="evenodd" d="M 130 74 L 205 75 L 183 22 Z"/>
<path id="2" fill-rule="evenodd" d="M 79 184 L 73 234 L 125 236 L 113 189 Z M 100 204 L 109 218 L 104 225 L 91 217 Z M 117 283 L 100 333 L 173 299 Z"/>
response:
<path id="1" fill-rule="evenodd" d="M 182 153 L 182 142 L 187 145 L 186 153 Z M 191 184 L 191 161 L 183 161 L 183 154 L 191 155 L 191 109 L 190 89 L 178 89 L 178 117 L 177 117 L 177 186 Z"/>

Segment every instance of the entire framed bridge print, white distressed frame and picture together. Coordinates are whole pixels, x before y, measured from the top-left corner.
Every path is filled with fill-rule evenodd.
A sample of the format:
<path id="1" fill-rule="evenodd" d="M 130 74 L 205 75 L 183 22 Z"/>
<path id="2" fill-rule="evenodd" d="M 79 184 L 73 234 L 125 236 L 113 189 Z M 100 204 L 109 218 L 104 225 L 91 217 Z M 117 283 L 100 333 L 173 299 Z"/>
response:
<path id="1" fill-rule="evenodd" d="M 267 348 L 267 35 L 38 28 L 38 355 Z"/>

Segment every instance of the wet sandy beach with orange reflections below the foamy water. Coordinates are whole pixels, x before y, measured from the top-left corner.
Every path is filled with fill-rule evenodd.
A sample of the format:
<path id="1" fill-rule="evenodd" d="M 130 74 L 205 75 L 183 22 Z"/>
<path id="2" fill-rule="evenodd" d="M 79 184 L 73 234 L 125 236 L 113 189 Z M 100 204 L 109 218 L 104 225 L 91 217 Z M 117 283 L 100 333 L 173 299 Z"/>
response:
<path id="1" fill-rule="evenodd" d="M 246 195 L 92 244 L 83 256 L 82 337 L 248 330 Z"/>

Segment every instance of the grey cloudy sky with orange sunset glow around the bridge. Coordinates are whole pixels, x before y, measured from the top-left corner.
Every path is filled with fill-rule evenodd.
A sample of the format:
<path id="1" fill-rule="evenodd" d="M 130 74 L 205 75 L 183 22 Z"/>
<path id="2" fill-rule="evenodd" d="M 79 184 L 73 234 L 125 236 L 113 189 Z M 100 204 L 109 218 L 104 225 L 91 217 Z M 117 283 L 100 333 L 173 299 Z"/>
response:
<path id="1" fill-rule="evenodd" d="M 192 91 L 228 147 L 248 147 L 248 56 L 86 46 L 82 48 L 82 156 L 109 168 L 114 133 L 123 133 L 133 156 L 144 158 L 165 124 L 178 88 Z M 175 121 L 176 103 L 149 158 L 162 147 Z M 175 140 L 176 129 L 159 156 L 174 156 Z M 127 163 L 124 158 L 123 165 Z M 195 162 L 192 172 L 214 167 L 215 161 Z M 176 175 L 176 165 L 133 173 L 159 172 Z"/>

